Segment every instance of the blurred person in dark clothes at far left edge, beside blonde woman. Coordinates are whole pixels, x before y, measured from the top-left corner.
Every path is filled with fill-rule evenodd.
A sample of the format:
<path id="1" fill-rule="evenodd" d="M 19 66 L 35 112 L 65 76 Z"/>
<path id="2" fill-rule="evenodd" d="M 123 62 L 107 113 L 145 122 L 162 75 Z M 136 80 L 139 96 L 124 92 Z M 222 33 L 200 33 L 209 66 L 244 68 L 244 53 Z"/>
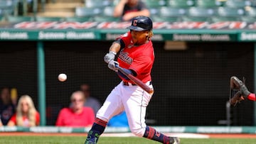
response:
<path id="1" fill-rule="evenodd" d="M 15 111 L 16 107 L 11 103 L 10 89 L 9 87 L 3 87 L 0 101 L 0 126 L 6 126 Z"/>

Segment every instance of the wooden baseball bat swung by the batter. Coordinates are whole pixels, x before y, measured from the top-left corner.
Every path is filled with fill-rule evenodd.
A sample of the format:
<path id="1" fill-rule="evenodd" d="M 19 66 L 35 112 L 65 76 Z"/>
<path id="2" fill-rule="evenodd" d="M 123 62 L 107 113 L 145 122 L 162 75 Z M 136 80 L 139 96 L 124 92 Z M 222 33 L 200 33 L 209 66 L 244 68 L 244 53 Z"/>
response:
<path id="1" fill-rule="evenodd" d="M 152 88 L 150 88 L 149 86 L 147 86 L 146 84 L 144 84 L 144 82 L 142 82 L 141 80 L 139 80 L 137 77 L 134 77 L 132 74 L 128 74 L 127 72 L 125 72 L 123 70 L 122 67 L 119 67 L 119 65 L 116 65 L 117 69 L 122 72 L 122 74 L 124 74 L 125 76 L 127 76 L 129 79 L 132 80 L 132 82 L 134 82 L 134 84 L 137 84 L 139 87 L 142 87 L 142 89 L 144 89 L 144 91 L 148 92 L 149 94 L 153 94 L 154 90 Z"/>

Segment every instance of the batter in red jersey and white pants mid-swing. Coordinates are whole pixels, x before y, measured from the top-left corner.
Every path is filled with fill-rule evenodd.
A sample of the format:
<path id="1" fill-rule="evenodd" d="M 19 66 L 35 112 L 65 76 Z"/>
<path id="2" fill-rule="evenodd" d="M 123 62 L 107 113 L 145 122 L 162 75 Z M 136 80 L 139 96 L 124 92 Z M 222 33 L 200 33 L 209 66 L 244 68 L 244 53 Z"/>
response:
<path id="1" fill-rule="evenodd" d="M 117 72 L 122 82 L 112 89 L 105 103 L 97 112 L 95 123 L 88 132 L 85 144 L 97 143 L 110 118 L 122 111 L 126 111 L 130 131 L 134 135 L 160 143 L 179 144 L 178 138 L 168 137 L 154 128 L 146 126 L 146 106 L 148 106 L 152 95 L 134 84 L 117 68 L 119 65 L 123 70 L 153 88 L 151 83 L 151 68 L 154 63 L 154 48 L 151 42 L 152 26 L 149 17 L 134 17 L 132 25 L 128 27 L 130 31 L 119 36 L 110 46 L 110 51 L 105 55 L 104 60 L 111 70 Z M 119 55 L 115 61 L 117 53 Z"/>

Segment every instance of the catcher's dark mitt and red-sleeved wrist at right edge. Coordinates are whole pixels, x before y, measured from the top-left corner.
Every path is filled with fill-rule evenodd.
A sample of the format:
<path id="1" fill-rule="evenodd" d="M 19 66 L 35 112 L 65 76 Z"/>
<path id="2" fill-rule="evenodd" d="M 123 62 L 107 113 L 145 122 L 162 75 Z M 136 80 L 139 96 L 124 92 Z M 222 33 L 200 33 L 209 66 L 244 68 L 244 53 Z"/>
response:
<path id="1" fill-rule="evenodd" d="M 256 101 L 255 94 L 249 92 L 244 82 L 238 79 L 238 77 L 233 76 L 230 78 L 230 90 L 238 90 L 238 92 L 236 92 L 230 99 L 230 104 L 233 106 L 238 104 L 240 101 L 245 100 L 245 98 L 251 101 Z"/>

